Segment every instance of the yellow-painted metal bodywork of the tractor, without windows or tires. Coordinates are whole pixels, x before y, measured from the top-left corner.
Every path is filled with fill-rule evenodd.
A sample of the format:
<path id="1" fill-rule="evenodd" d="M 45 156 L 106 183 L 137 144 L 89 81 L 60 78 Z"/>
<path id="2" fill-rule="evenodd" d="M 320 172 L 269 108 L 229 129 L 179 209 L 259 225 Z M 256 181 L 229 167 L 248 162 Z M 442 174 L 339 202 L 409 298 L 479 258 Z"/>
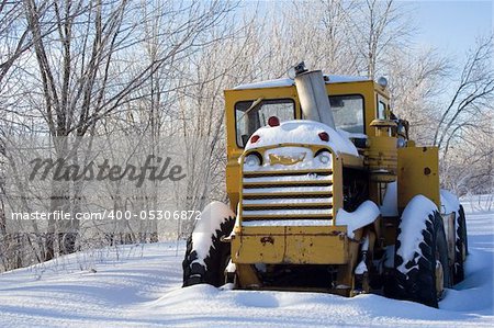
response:
<path id="1" fill-rule="evenodd" d="M 256 214 L 246 214 L 245 211 L 269 208 L 269 197 L 282 197 L 290 195 L 285 191 L 262 191 L 266 186 L 297 185 L 300 181 L 274 181 L 274 182 L 245 182 L 244 178 L 269 177 L 272 171 L 243 172 L 244 159 L 251 152 L 258 152 L 266 160 L 266 151 L 277 147 L 305 147 L 316 154 L 323 147 L 302 144 L 273 145 L 244 151 L 236 143 L 235 134 L 235 103 L 239 101 L 256 101 L 258 99 L 291 99 L 295 104 L 295 118 L 302 118 L 300 102 L 295 87 L 259 88 L 246 90 L 225 91 L 225 117 L 226 117 L 226 191 L 231 201 L 232 210 L 237 212 L 237 223 L 234 228 L 235 236 L 232 237 L 232 260 L 237 264 L 237 285 L 240 287 L 262 287 L 259 281 L 255 263 L 266 264 L 334 264 L 338 268 L 337 283 L 347 285 L 348 289 L 336 290 L 335 293 L 352 295 L 353 270 L 359 261 L 359 248 L 357 242 L 362 238 L 363 230 L 372 236 L 375 245 L 382 241 L 384 245 L 394 242 L 396 234 L 396 219 L 381 219 L 380 217 L 370 226 L 358 229 L 355 240 L 347 237 L 347 227 L 337 226 L 334 219 L 339 208 L 344 206 L 344 171 L 357 169 L 364 171 L 368 179 L 369 199 L 380 204 L 384 183 L 396 181 L 398 186 L 398 210 L 402 211 L 407 202 L 416 194 L 424 194 L 440 206 L 438 155 L 435 147 L 415 147 L 413 140 L 408 140 L 408 147 L 397 148 L 396 123 L 390 121 L 390 95 L 385 89 L 373 81 L 341 82 L 326 84 L 329 95 L 360 94 L 363 97 L 364 128 L 368 136 L 368 146 L 360 156 L 335 154 L 330 148 L 324 148 L 332 155 L 330 169 L 317 171 L 307 169 L 290 169 L 305 159 L 305 154 L 300 157 L 280 155 L 268 155 L 269 165 L 285 166 L 282 170 L 288 174 L 323 173 L 330 176 L 332 191 L 325 196 L 332 201 L 327 203 L 308 203 L 307 208 L 330 210 L 330 217 L 326 225 L 321 226 L 243 226 L 245 222 L 261 218 Z M 377 120 L 378 99 L 385 105 L 384 117 Z M 280 171 L 281 172 L 281 171 Z M 314 182 L 312 185 L 318 185 Z M 325 182 L 321 182 L 324 185 Z M 254 199 L 266 200 L 256 204 L 245 204 L 243 190 L 256 188 Z M 307 193 L 306 196 L 321 195 L 321 192 Z M 252 194 L 249 194 L 252 199 Z M 296 203 L 285 205 L 285 208 L 296 208 Z M 327 215 L 321 215 L 322 217 Z M 282 219 L 304 218 L 304 215 L 284 216 Z M 262 215 L 262 218 L 270 218 Z M 274 217 L 277 219 L 279 217 Z M 381 245 L 381 244 L 380 244 Z M 377 247 L 372 242 L 371 248 Z"/>

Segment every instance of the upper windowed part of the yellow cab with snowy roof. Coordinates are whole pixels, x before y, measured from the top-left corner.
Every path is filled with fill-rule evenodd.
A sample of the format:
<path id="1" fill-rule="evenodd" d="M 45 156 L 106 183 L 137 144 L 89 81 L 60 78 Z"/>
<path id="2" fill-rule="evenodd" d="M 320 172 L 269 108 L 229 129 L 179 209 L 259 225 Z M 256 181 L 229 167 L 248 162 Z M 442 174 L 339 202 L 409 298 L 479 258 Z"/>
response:
<path id="1" fill-rule="evenodd" d="M 373 120 L 390 118 L 384 80 L 381 80 L 382 84 L 378 84 L 360 77 L 324 78 L 338 129 L 363 135 Z M 289 78 L 242 84 L 226 90 L 225 99 L 227 125 L 235 127 L 236 138 L 232 146 L 238 148 L 244 148 L 250 135 L 266 126 L 271 116 L 277 116 L 281 122 L 305 118 L 294 81 Z"/>

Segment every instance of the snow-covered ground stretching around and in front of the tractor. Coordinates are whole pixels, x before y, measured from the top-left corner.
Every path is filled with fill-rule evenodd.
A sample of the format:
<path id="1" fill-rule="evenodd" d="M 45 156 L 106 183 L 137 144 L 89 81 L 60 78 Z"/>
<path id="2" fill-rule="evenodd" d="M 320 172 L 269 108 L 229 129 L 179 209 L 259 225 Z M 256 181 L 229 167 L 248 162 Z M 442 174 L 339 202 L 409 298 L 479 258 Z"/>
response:
<path id="1" fill-rule="evenodd" d="M 0 327 L 494 327 L 494 205 L 465 201 L 467 279 L 439 309 L 378 295 L 181 289 L 183 244 L 162 242 L 0 274 Z"/>

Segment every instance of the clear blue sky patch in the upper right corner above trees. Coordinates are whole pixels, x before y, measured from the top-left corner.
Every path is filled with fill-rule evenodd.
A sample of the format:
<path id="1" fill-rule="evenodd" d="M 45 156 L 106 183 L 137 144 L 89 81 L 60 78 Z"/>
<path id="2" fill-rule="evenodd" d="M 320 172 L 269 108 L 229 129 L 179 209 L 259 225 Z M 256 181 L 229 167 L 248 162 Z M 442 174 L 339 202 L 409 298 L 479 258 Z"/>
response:
<path id="1" fill-rule="evenodd" d="M 419 45 L 433 46 L 462 56 L 475 44 L 479 34 L 493 32 L 494 4 L 484 1 L 406 1 L 414 10 L 420 33 Z"/>

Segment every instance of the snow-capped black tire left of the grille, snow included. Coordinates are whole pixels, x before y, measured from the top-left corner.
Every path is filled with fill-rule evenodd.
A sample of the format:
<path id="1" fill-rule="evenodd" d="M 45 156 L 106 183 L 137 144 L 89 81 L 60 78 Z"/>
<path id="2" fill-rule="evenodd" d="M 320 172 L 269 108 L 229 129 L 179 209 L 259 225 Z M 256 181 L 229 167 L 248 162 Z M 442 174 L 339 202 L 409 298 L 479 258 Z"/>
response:
<path id="1" fill-rule="evenodd" d="M 182 262 L 183 287 L 206 283 L 224 284 L 224 271 L 229 260 L 229 244 L 222 237 L 229 236 L 235 224 L 235 213 L 221 202 L 212 202 L 201 213 L 191 236 L 187 240 Z"/>

